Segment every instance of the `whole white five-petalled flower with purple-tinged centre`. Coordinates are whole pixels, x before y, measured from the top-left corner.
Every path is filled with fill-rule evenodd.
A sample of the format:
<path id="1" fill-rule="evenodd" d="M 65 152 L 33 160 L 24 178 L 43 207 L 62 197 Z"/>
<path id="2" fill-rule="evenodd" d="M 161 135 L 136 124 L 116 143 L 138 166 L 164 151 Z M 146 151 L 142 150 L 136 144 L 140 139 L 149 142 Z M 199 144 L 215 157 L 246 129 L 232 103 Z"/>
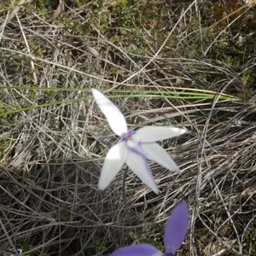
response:
<path id="1" fill-rule="evenodd" d="M 109 101 L 100 91 L 96 89 L 91 89 L 91 91 L 98 107 L 101 108 L 102 113 L 108 119 L 108 124 L 113 132 L 124 139 L 108 151 L 102 166 L 98 184 L 99 189 L 106 189 L 126 163 L 143 183 L 158 194 L 159 190 L 153 174 L 144 159 L 153 160 L 170 171 L 180 172 L 172 157 L 155 142 L 179 136 L 185 133 L 186 130 L 175 127 L 146 126 L 137 131 L 128 131 L 125 117 L 113 105 L 113 102 Z"/>

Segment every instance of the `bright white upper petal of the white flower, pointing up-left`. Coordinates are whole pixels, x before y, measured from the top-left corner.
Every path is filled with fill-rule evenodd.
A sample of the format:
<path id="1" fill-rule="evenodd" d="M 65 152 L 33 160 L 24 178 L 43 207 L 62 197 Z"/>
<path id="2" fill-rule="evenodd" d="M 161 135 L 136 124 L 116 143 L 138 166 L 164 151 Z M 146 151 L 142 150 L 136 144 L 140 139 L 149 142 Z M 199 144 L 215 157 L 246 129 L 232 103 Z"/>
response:
<path id="1" fill-rule="evenodd" d="M 95 101 L 99 108 L 101 108 L 102 113 L 105 114 L 108 125 L 112 131 L 119 135 L 124 136 L 127 132 L 127 124 L 124 115 L 119 111 L 119 109 L 113 105 L 113 102 L 108 100 L 99 90 L 91 89 L 91 92 L 95 98 Z"/>

